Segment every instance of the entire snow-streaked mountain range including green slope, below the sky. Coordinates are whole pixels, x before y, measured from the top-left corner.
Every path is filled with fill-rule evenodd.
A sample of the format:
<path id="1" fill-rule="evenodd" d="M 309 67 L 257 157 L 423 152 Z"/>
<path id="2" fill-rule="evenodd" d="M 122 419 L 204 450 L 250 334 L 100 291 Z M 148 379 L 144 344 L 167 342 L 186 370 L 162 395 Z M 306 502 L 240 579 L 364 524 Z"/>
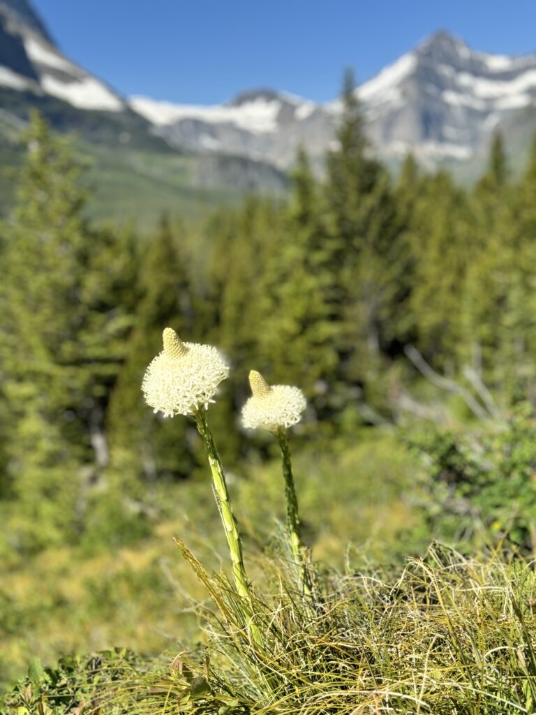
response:
<path id="1" fill-rule="evenodd" d="M 470 49 L 440 31 L 357 88 L 369 137 L 390 165 L 413 152 L 425 167 L 447 164 L 470 179 L 501 131 L 514 162 L 536 129 L 536 54 Z M 16 137 L 32 108 L 60 131 L 76 131 L 94 159 L 96 213 L 124 218 L 133 206 L 199 213 L 207 200 L 244 190 L 281 192 L 297 147 L 318 172 L 341 112 L 273 89 L 192 106 L 121 96 L 64 56 L 29 0 L 0 0 L 0 159 L 16 163 Z M 0 209 L 9 184 L 0 177 Z M 150 208 L 149 208 L 150 204 Z M 97 208 L 98 207 L 98 208 Z"/>

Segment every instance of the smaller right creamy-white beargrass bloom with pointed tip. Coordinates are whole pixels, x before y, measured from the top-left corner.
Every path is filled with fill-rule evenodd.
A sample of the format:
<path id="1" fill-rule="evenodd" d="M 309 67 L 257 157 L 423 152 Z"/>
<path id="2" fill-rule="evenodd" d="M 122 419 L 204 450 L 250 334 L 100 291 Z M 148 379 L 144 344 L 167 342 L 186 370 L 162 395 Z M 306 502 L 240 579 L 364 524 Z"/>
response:
<path id="1" fill-rule="evenodd" d="M 242 424 L 276 432 L 280 427 L 292 427 L 301 420 L 307 402 L 302 390 L 290 385 L 270 386 L 260 373 L 249 373 L 252 397 L 242 408 Z"/>

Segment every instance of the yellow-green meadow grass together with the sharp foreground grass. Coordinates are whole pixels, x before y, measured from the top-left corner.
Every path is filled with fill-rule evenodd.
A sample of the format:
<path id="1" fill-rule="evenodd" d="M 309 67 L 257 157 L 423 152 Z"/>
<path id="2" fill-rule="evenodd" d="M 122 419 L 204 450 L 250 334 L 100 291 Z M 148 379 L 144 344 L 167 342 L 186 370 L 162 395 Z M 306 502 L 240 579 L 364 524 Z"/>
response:
<path id="1" fill-rule="evenodd" d="M 228 473 L 262 633 L 252 637 L 207 470 L 155 495 L 158 526 L 137 546 L 66 547 L 0 574 L 4 677 L 29 667 L 6 712 L 533 713 L 532 563 L 503 544 L 423 548 L 420 467 L 389 433 L 294 452 L 312 596 L 289 563 L 279 460 Z"/>

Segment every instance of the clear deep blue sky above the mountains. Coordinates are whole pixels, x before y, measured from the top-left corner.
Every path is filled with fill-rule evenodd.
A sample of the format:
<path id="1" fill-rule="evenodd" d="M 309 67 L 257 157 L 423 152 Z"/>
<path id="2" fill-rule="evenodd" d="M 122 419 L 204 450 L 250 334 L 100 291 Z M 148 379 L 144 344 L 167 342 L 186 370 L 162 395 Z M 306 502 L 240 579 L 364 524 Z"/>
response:
<path id="1" fill-rule="evenodd" d="M 211 104 L 274 87 L 323 102 L 437 29 L 536 51 L 536 0 L 33 0 L 65 54 L 119 92 Z"/>

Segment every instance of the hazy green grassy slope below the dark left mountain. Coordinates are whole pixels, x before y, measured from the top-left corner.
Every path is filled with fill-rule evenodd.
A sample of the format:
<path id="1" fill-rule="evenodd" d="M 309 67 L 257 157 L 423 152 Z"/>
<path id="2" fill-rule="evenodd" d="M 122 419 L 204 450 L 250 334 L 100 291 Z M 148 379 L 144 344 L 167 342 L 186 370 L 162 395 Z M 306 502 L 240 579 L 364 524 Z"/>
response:
<path id="1" fill-rule="evenodd" d="M 0 107 L 8 99 L 11 103 L 17 100 L 21 107 L 12 109 L 24 114 L 24 97 L 18 93 L 11 93 L 9 97 L 5 94 L 0 91 Z M 222 187 L 200 187 L 198 172 L 202 159 L 167 149 L 162 140 L 150 137 L 147 130 L 138 127 L 135 117 L 131 120 L 132 126 L 127 116 L 126 127 L 114 127 L 108 115 L 104 121 L 102 113 L 94 116 L 90 112 L 65 109 L 63 102 L 56 102 L 57 107 L 53 100 L 47 99 L 47 102 L 41 109 L 46 109 L 46 116 L 55 120 L 54 126 L 59 119 L 66 122 L 65 127 L 60 124 L 60 130 L 72 131 L 71 124 L 76 127 L 80 116 L 88 125 L 81 127 L 86 139 L 78 139 L 76 149 L 89 163 L 86 180 L 91 187 L 90 218 L 119 223 L 132 221 L 140 230 L 150 230 L 164 212 L 185 220 L 197 220 L 212 207 L 237 203 L 244 196 L 243 188 L 229 183 Z M 69 117 L 69 111 L 73 117 Z M 17 142 L 24 126 L 24 120 L 0 109 L 0 216 L 5 216 L 14 202 L 14 169 L 20 166 L 23 156 Z M 126 145 L 117 139 L 118 132 L 125 128 L 132 137 Z"/>

